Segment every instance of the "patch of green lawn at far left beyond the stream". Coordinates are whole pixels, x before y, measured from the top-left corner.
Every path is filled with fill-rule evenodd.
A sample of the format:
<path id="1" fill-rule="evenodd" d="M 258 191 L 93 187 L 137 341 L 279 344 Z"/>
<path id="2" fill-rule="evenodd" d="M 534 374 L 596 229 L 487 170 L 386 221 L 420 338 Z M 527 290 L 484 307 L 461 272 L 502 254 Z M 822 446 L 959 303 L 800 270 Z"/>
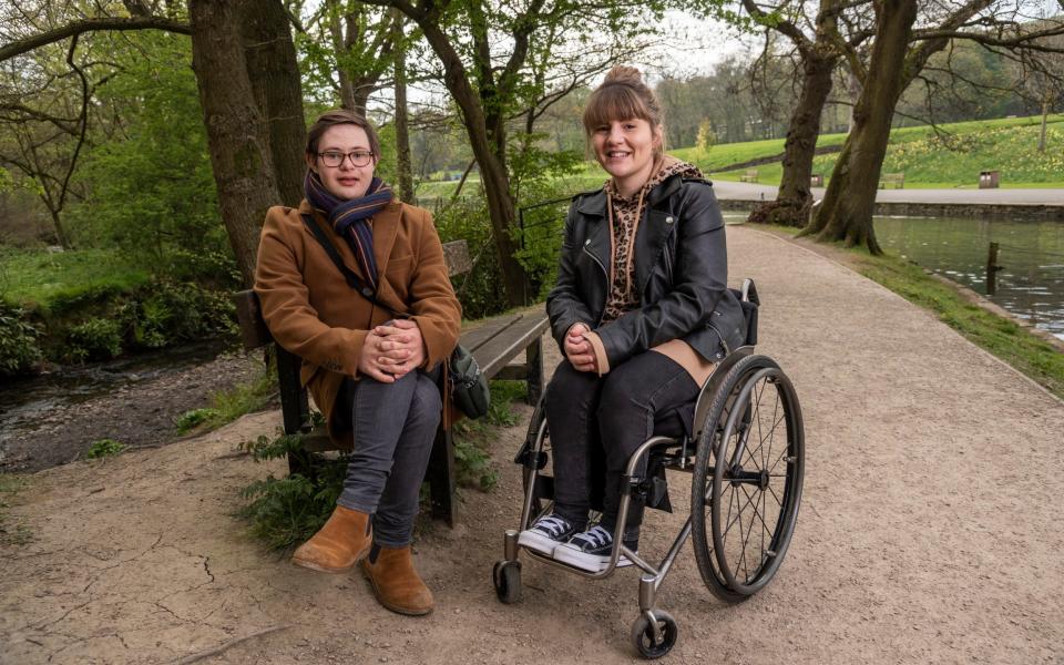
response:
<path id="1" fill-rule="evenodd" d="M 0 297 L 44 310 L 84 297 L 131 291 L 150 279 L 147 270 L 129 265 L 113 249 L 0 252 Z"/>

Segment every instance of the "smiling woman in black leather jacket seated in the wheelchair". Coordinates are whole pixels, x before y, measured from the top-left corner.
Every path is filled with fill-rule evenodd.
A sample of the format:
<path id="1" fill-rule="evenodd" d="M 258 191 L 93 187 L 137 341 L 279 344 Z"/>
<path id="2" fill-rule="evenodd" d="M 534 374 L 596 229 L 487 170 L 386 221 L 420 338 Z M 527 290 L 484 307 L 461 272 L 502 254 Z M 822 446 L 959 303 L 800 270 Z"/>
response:
<path id="1" fill-rule="evenodd" d="M 554 507 L 518 543 L 594 572 L 610 563 L 630 457 L 666 416 L 690 433 L 699 389 L 744 344 L 746 321 L 727 288 L 713 187 L 697 167 L 665 155 L 661 104 L 638 71 L 613 68 L 583 122 L 611 177 L 574 197 L 565 221 L 557 285 L 546 301 L 565 357 L 544 401 Z M 604 479 L 595 477 L 602 458 Z M 592 488 L 602 485 L 602 516 L 590 523 Z M 631 502 L 621 538 L 633 552 L 642 514 Z"/>

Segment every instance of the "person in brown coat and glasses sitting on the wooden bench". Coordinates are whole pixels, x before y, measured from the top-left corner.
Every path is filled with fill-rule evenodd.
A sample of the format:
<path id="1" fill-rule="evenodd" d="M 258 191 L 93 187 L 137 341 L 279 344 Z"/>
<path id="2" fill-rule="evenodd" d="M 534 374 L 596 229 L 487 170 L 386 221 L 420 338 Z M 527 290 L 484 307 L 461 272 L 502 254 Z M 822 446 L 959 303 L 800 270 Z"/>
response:
<path id="1" fill-rule="evenodd" d="M 364 117 L 315 122 L 306 200 L 267 213 L 255 290 L 274 339 L 303 358 L 330 437 L 354 437 L 336 510 L 293 562 L 338 573 L 365 559 L 385 607 L 428 614 L 410 541 L 441 415 L 430 375 L 458 344 L 461 306 L 429 213 L 392 197 L 374 176 L 379 157 Z"/>

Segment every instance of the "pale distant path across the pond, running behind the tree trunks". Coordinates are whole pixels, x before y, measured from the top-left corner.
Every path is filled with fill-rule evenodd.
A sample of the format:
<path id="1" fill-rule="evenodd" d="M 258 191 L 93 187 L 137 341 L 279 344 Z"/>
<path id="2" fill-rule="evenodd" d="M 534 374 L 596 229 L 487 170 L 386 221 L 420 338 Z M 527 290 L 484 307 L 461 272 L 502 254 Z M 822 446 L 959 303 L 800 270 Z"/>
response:
<path id="1" fill-rule="evenodd" d="M 714 181 L 717 197 L 726 201 L 773 201 L 778 187 L 730 181 Z M 823 198 L 823 187 L 814 187 L 812 195 Z M 1062 205 L 1064 188 L 1044 190 L 879 190 L 881 203 L 955 203 L 982 205 Z"/>

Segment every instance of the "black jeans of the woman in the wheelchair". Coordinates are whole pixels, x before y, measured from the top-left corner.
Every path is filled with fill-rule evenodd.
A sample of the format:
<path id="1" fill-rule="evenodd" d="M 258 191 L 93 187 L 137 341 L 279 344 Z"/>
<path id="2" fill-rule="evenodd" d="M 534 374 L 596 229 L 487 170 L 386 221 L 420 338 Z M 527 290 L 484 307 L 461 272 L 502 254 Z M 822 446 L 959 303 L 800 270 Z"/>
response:
<path id="1" fill-rule="evenodd" d="M 554 512 L 584 529 L 593 488 L 602 487 L 602 525 L 613 532 L 628 458 L 654 434 L 656 415 L 694 401 L 699 388 L 679 364 L 655 351 L 640 354 L 604 377 L 576 371 L 562 360 L 545 402 L 554 449 Z M 603 466 L 598 459 L 604 479 L 593 477 Z M 645 468 L 644 457 L 637 472 Z M 626 541 L 638 538 L 643 521 L 643 505 L 630 505 Z"/>

